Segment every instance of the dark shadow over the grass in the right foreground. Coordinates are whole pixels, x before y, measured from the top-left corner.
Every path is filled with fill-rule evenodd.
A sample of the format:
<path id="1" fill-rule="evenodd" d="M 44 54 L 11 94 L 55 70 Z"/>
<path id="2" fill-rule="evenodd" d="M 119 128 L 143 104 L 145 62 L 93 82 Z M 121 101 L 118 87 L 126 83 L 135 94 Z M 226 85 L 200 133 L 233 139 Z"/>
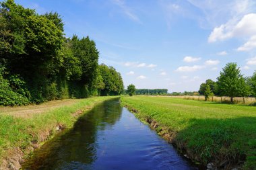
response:
<path id="1" fill-rule="evenodd" d="M 248 169 L 256 165 L 255 117 L 191 119 L 189 124 L 175 140 L 196 161 L 225 169 L 244 161 Z"/>

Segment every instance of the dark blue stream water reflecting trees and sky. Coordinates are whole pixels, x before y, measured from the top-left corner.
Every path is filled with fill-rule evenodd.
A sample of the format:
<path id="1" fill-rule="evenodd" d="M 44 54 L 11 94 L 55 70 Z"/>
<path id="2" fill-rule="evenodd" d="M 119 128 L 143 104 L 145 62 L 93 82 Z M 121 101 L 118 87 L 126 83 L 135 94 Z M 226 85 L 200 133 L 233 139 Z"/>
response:
<path id="1" fill-rule="evenodd" d="M 106 101 L 46 142 L 23 169 L 197 169 L 118 100 Z"/>

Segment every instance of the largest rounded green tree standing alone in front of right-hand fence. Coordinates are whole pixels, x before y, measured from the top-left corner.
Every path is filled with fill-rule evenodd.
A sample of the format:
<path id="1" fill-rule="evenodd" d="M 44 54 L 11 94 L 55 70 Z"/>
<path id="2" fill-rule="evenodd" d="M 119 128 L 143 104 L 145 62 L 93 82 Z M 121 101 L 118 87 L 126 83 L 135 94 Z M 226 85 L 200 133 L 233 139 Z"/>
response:
<path id="1" fill-rule="evenodd" d="M 234 62 L 226 64 L 217 79 L 220 95 L 230 97 L 232 103 L 234 97 L 245 97 L 250 94 L 249 85 Z"/>

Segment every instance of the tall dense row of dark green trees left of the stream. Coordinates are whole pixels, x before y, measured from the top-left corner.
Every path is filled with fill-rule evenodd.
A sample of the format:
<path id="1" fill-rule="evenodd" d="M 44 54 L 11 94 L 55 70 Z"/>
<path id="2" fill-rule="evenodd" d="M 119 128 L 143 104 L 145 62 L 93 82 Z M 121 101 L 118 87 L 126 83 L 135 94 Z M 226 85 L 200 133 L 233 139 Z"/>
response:
<path id="1" fill-rule="evenodd" d="M 89 37 L 65 38 L 58 13 L 0 5 L 0 105 L 122 93 L 120 73 L 98 65 Z"/>

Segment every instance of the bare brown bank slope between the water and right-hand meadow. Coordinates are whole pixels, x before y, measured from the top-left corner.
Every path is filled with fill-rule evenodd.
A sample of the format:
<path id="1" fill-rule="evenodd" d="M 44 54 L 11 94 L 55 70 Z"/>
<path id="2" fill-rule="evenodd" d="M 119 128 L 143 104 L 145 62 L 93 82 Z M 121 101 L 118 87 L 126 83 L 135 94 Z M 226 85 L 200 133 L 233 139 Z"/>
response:
<path id="1" fill-rule="evenodd" d="M 141 118 L 141 116 L 139 116 L 139 110 L 132 108 L 129 105 L 125 105 L 125 108 L 130 110 L 130 112 L 133 112 L 133 114 L 135 114 L 135 116 L 142 122 L 146 122 L 150 128 L 156 130 L 156 132 L 162 136 L 162 138 L 177 148 L 177 151 L 179 151 L 183 157 L 186 157 L 186 159 L 189 159 L 191 162 L 195 163 L 199 169 L 243 169 L 243 161 L 239 160 L 245 161 L 245 155 L 237 156 L 236 159 L 226 159 L 225 157 L 222 157 L 222 155 L 216 155 L 216 157 L 214 157 L 210 163 L 205 164 L 199 159 L 199 155 L 193 153 L 191 150 L 189 150 L 189 148 L 187 148 L 186 143 L 177 140 L 177 132 L 170 130 L 166 126 L 162 126 L 150 117 Z"/>

